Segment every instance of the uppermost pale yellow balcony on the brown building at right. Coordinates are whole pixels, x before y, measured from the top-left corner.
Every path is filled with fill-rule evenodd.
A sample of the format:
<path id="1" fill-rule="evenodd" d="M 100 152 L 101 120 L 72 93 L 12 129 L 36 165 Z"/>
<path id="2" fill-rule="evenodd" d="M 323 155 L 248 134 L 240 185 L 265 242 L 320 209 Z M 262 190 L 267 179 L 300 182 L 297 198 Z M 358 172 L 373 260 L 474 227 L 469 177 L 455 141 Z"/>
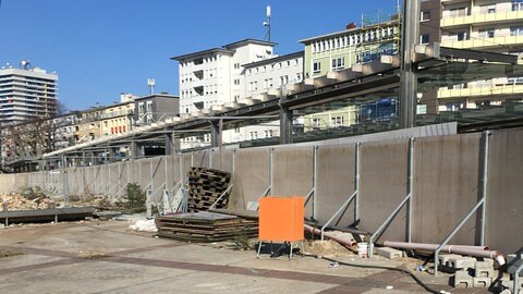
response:
<path id="1" fill-rule="evenodd" d="M 471 15 L 446 15 L 441 19 L 441 27 L 452 27 L 462 25 L 481 25 L 488 23 L 500 22 L 521 22 L 523 19 L 523 11 L 500 11 L 496 13 L 472 13 Z"/>

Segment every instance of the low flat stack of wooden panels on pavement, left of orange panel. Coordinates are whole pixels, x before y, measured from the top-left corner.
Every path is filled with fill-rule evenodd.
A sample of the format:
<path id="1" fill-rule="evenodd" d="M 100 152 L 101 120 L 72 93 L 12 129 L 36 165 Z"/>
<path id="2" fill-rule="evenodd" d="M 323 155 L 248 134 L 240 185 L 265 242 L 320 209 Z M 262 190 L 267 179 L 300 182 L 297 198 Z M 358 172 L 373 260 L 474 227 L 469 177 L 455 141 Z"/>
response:
<path id="1" fill-rule="evenodd" d="M 219 242 L 258 234 L 257 220 L 208 211 L 158 217 L 155 222 L 159 236 L 185 242 Z"/>

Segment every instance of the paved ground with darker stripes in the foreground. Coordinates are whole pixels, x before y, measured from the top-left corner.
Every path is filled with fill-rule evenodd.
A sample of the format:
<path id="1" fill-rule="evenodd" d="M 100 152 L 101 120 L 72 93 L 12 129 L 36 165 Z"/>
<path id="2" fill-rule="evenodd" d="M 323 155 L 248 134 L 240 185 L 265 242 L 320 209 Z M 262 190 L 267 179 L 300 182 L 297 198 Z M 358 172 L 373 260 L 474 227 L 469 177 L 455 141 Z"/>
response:
<path id="1" fill-rule="evenodd" d="M 86 221 L 0 229 L 0 293 L 426 293 L 400 272 L 331 267 L 311 257 L 256 258 L 224 243 L 155 238 L 124 221 Z M 9 255 L 9 256 L 5 256 Z M 340 258 L 401 266 L 384 258 Z M 435 290 L 448 278 L 419 273 Z"/>

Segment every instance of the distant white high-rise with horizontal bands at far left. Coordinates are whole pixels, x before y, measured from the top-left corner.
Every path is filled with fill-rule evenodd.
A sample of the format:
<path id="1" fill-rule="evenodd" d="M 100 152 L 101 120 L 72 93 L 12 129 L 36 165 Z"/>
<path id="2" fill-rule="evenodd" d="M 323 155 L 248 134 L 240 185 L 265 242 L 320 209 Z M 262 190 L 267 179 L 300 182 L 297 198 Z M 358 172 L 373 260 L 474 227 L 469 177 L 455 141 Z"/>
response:
<path id="1" fill-rule="evenodd" d="M 22 61 L 0 70 L 0 122 L 16 123 L 57 114 L 58 75 Z"/>

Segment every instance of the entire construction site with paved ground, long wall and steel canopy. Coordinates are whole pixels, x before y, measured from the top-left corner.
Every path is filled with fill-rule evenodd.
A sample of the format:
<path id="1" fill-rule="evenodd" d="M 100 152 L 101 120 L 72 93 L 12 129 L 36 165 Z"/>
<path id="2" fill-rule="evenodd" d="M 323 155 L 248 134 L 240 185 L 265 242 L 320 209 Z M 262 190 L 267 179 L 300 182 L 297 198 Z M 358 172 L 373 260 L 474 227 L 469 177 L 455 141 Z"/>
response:
<path id="1" fill-rule="evenodd" d="M 521 293 L 523 105 L 416 115 L 416 96 L 518 75 L 523 64 L 417 45 L 413 2 L 402 59 L 365 61 L 0 174 L 0 292 Z M 296 115 L 379 97 L 399 97 L 398 120 L 293 131 Z M 223 144 L 224 131 L 275 118 L 277 142 Z M 177 149 L 193 132 L 210 146 Z M 163 155 L 139 154 L 155 144 Z M 113 151 L 123 147 L 132 155 L 121 160 Z M 28 172 L 36 166 L 54 168 Z"/>

